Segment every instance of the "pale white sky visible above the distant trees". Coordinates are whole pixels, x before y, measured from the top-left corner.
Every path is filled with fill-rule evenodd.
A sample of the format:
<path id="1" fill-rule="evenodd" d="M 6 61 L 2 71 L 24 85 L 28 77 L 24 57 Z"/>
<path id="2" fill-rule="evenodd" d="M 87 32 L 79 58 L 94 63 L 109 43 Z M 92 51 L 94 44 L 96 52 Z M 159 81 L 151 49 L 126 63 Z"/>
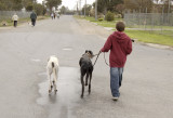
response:
<path id="1" fill-rule="evenodd" d="M 42 0 L 37 0 L 39 3 L 42 3 Z M 80 0 L 62 0 L 62 5 L 68 6 L 69 10 L 77 8 L 77 2 Z M 92 4 L 95 0 L 86 0 L 86 4 Z M 85 0 L 81 0 L 81 6 L 85 3 Z M 78 5 L 79 6 L 79 5 Z"/>

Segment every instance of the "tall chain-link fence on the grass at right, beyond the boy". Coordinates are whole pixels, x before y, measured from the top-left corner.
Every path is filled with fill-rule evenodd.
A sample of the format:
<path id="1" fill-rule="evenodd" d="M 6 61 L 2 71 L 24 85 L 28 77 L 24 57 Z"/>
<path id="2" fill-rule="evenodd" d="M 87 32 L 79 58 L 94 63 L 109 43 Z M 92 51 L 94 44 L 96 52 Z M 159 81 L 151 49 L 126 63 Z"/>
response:
<path id="1" fill-rule="evenodd" d="M 125 13 L 127 27 L 173 36 L 173 13 Z"/>

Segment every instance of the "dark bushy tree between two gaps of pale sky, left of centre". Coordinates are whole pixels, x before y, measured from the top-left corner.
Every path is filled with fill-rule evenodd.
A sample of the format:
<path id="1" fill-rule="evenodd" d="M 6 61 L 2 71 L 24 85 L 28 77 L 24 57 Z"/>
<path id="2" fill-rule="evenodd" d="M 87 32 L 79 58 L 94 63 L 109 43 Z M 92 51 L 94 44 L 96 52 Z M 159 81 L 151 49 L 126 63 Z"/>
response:
<path id="1" fill-rule="evenodd" d="M 62 4 L 62 0 L 46 0 L 45 4 L 52 11 L 53 6 L 57 8 L 58 5 Z"/>

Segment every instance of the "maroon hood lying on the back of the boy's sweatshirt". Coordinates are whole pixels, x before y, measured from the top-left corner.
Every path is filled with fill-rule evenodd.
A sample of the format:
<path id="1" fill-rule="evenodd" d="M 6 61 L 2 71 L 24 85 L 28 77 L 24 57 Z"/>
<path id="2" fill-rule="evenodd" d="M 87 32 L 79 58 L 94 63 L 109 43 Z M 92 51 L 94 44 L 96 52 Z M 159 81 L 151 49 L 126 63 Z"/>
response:
<path id="1" fill-rule="evenodd" d="M 115 31 L 112 34 L 112 36 L 115 37 L 115 39 L 117 40 L 117 42 L 119 43 L 123 43 L 124 41 L 127 41 L 127 35 L 124 32 L 121 31 Z"/>

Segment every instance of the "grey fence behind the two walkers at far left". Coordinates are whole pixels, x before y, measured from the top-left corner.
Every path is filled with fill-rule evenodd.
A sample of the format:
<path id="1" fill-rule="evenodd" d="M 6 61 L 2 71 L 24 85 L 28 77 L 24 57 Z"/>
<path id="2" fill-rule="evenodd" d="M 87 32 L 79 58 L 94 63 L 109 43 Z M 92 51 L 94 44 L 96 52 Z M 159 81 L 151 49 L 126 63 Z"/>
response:
<path id="1" fill-rule="evenodd" d="M 29 17 L 31 12 L 23 12 L 23 11 L 0 11 L 0 21 L 12 18 L 12 16 L 16 13 L 19 18 Z"/>

